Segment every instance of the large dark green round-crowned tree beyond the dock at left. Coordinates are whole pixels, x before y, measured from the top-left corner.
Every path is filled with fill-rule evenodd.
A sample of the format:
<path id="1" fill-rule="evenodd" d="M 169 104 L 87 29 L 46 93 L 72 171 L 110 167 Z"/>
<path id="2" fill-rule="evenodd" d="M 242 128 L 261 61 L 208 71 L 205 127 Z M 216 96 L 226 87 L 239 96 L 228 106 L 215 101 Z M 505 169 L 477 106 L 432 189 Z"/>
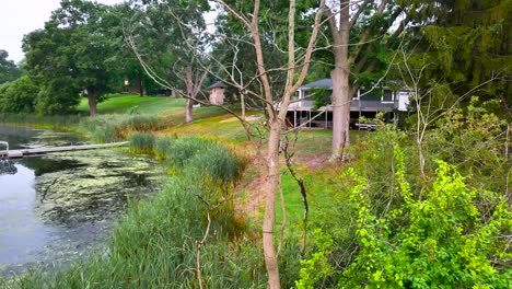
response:
<path id="1" fill-rule="evenodd" d="M 109 34 L 108 9 L 84 0 L 62 0 L 43 30 L 25 36 L 27 67 L 44 86 L 42 112 L 55 113 L 51 99 L 59 93 L 67 94 L 59 95 L 60 100 L 69 99 L 68 105 L 75 105 L 83 91 L 94 116 L 98 99 L 115 88 L 112 57 L 118 43 Z M 63 83 L 66 90 L 60 88 Z"/>

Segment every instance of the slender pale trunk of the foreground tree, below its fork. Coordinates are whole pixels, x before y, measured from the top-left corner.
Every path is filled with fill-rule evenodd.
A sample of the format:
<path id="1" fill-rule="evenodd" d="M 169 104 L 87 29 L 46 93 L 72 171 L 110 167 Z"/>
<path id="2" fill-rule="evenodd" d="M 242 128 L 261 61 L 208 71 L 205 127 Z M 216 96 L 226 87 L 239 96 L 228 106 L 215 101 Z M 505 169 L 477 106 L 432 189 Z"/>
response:
<path id="1" fill-rule="evenodd" d="M 281 124 L 279 119 L 270 123 L 270 135 L 268 140 L 267 154 L 267 180 L 265 182 L 265 216 L 263 223 L 263 247 L 265 255 L 265 266 L 268 274 L 268 288 L 278 289 L 279 267 L 276 251 L 274 248 L 274 219 L 276 212 L 276 192 L 280 183 L 279 173 L 279 141 Z"/>

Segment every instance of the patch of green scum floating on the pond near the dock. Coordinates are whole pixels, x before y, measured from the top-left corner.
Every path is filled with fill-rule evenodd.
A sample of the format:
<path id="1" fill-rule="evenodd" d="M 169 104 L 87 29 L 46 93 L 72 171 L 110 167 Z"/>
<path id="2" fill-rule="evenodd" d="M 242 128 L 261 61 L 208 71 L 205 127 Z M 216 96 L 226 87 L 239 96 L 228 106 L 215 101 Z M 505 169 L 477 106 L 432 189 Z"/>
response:
<path id="1" fill-rule="evenodd" d="M 36 213 L 62 226 L 116 216 L 128 199 L 154 192 L 162 172 L 147 158 L 127 155 L 121 150 L 82 151 L 51 158 L 80 164 L 42 174 L 36 180 L 39 199 Z"/>

